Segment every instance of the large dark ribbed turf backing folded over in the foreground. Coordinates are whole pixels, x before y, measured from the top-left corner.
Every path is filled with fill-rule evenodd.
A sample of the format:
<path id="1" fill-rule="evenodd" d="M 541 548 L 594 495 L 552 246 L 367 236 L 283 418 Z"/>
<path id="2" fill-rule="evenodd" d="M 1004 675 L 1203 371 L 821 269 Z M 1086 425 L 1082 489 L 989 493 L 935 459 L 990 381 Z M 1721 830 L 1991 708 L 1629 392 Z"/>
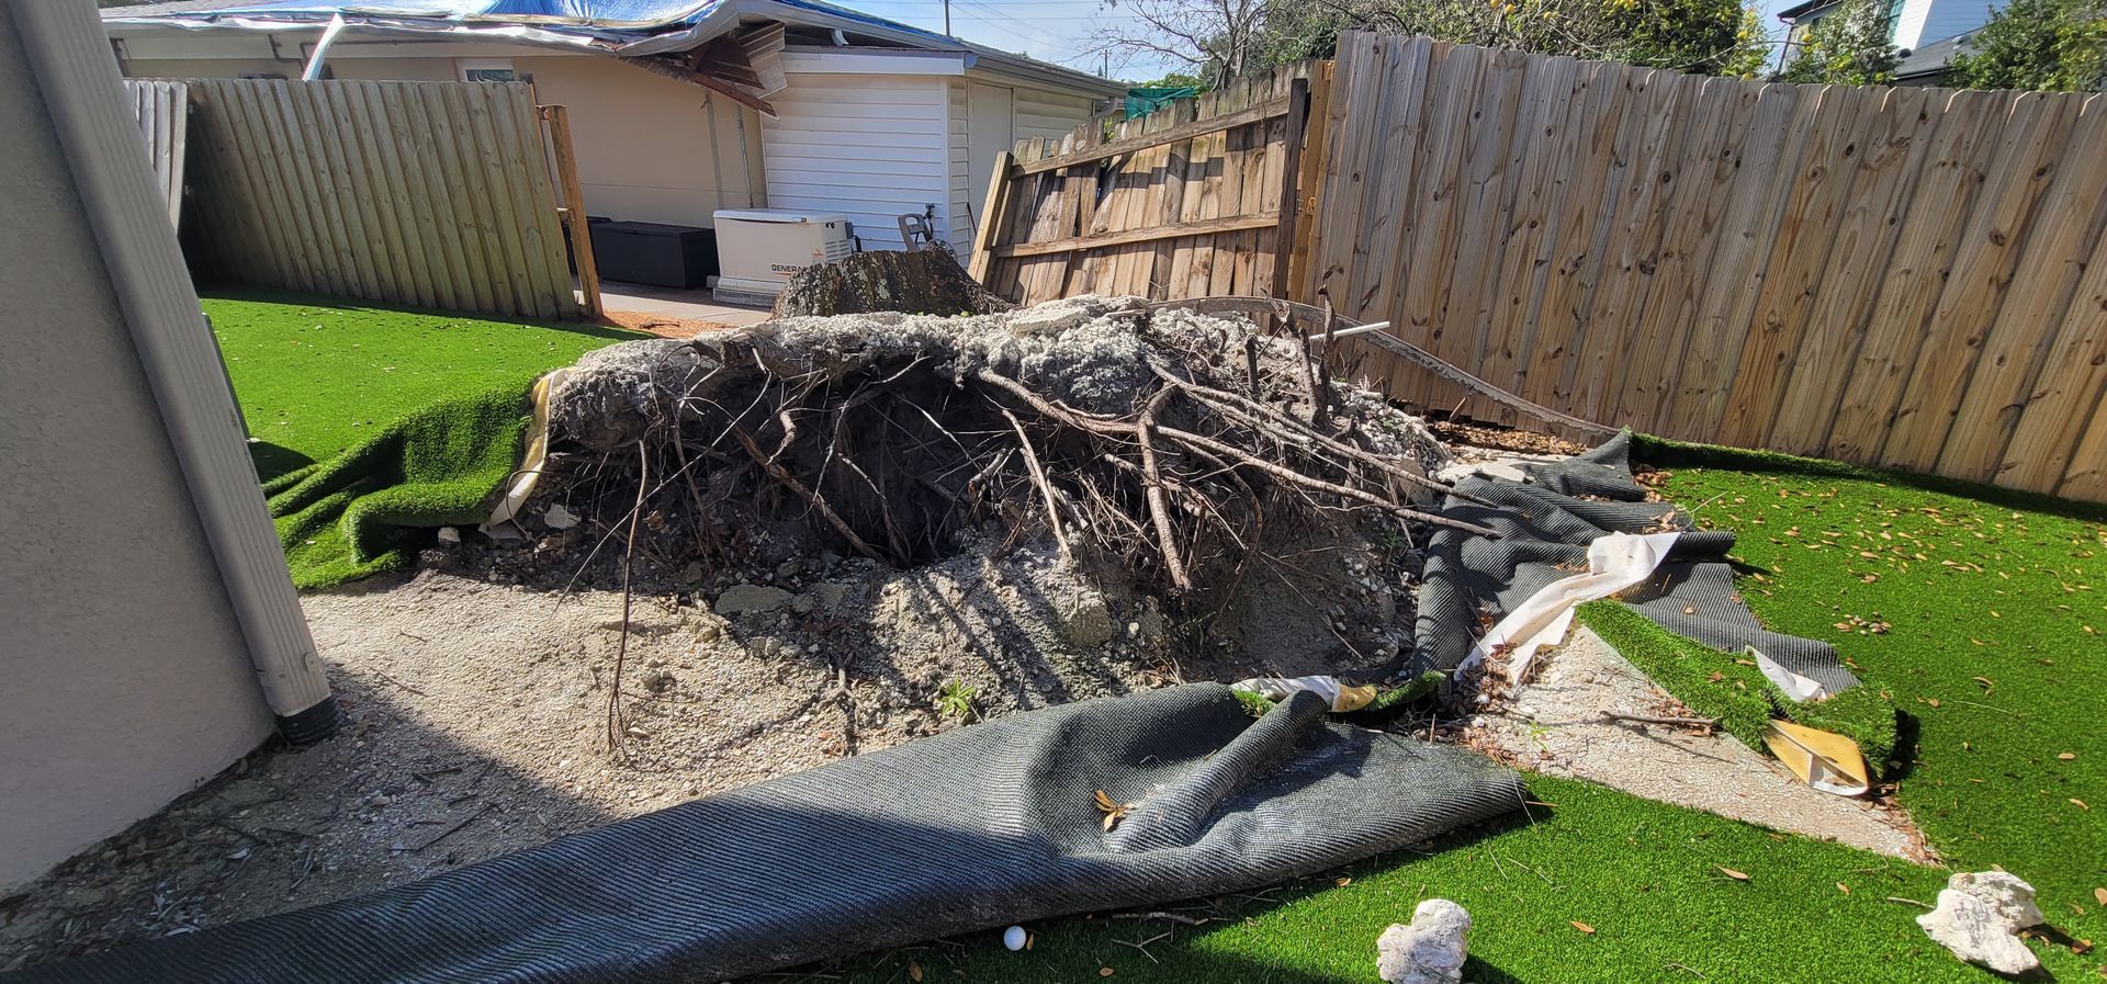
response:
<path id="1" fill-rule="evenodd" d="M 1134 803 L 1112 828 L 1098 790 Z M 718 982 L 1243 891 L 1519 809 L 1466 750 L 1197 683 L 1011 714 L 27 982 Z"/>

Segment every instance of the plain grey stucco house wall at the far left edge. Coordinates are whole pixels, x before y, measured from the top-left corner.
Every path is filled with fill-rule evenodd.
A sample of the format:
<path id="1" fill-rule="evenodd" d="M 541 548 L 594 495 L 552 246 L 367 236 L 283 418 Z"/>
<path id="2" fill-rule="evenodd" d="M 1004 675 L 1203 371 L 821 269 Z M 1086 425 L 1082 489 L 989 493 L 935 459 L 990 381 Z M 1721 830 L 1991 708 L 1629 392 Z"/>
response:
<path id="1" fill-rule="evenodd" d="M 15 17 L 0 4 L 0 893 L 272 729 Z"/>

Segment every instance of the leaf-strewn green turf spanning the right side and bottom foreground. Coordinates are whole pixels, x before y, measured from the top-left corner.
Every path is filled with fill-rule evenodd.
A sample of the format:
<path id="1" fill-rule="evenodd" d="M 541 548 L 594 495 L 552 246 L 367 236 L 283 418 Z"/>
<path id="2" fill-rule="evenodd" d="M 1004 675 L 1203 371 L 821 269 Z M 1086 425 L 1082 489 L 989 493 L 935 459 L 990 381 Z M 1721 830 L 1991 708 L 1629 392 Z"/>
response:
<path id="1" fill-rule="evenodd" d="M 2107 510 L 1774 455 L 1646 449 L 1673 470 L 1669 497 L 1742 533 L 1736 556 L 1753 565 L 1742 588 L 1757 615 L 1835 643 L 1903 710 L 1901 801 L 1932 845 L 1955 868 L 2019 872 L 2056 927 L 2107 944 L 2094 900 L 2107 887 Z M 1182 910 L 1222 919 L 1203 927 L 1058 919 L 1030 927 L 1035 946 L 1020 955 L 990 931 L 828 971 L 908 980 L 912 961 L 925 980 L 1085 982 L 1110 967 L 1142 982 L 1372 982 L 1382 927 L 1441 896 L 1477 921 L 1464 980 L 1995 980 L 1926 940 L 1922 908 L 1890 900 L 1930 902 L 1947 870 L 1593 784 L 1532 775 L 1530 790 L 1555 807 L 1431 853 Z M 1165 931 L 1146 955 L 1127 946 Z M 2033 946 L 2059 980 L 2107 976 L 2103 950 Z"/>

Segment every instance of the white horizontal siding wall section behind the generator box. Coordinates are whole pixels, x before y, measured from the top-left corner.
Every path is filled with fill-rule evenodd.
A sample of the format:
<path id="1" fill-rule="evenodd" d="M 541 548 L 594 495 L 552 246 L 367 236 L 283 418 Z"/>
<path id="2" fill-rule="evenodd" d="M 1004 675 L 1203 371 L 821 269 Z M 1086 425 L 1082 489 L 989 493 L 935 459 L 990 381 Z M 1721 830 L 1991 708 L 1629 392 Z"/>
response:
<path id="1" fill-rule="evenodd" d="M 952 211 L 950 99 L 938 76 L 794 74 L 761 126 L 771 209 L 845 213 L 864 249 L 900 249 L 902 213 Z"/>

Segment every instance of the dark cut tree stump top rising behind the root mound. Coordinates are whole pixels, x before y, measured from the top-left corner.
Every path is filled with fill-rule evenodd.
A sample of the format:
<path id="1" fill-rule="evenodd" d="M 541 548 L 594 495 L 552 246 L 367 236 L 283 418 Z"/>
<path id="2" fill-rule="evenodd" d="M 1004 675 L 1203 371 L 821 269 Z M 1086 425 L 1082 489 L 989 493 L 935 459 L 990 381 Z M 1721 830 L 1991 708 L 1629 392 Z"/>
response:
<path id="1" fill-rule="evenodd" d="M 830 316 L 868 312 L 999 314 L 1009 301 L 973 282 L 950 253 L 853 253 L 790 276 L 775 297 L 775 316 Z"/>

